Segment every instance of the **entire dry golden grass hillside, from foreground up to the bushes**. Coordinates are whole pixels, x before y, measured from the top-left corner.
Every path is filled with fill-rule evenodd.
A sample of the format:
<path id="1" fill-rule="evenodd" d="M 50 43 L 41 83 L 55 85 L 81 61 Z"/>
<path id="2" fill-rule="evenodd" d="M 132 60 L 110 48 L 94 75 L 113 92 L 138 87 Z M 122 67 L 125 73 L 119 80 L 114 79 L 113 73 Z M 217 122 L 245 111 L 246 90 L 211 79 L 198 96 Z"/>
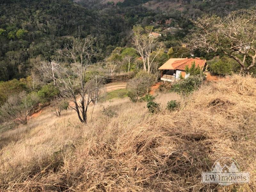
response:
<path id="1" fill-rule="evenodd" d="M 178 111 L 165 110 L 169 100 Z M 0 136 L 0 191 L 256 191 L 256 79 L 206 83 L 188 98 L 159 93 L 161 112 L 127 98 L 99 105 L 87 125 L 50 109 Z M 91 112 L 92 108 L 90 108 Z M 90 118 L 91 119 L 91 118 Z M 202 184 L 220 157 L 250 172 L 250 184 Z"/>

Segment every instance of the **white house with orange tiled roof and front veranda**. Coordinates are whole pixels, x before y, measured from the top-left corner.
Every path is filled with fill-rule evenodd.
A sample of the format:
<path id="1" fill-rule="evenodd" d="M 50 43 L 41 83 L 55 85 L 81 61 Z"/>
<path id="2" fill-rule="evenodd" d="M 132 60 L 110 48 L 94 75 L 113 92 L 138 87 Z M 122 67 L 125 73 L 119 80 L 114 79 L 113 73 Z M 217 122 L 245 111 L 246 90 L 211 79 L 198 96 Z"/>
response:
<path id="1" fill-rule="evenodd" d="M 190 68 L 192 64 L 195 62 L 196 67 L 199 66 L 202 70 L 204 69 L 206 60 L 202 60 L 200 58 L 171 58 L 164 63 L 159 70 L 161 70 L 161 80 L 174 82 L 180 78 L 180 74 L 182 77 L 187 78 L 189 74 L 186 74 L 185 67 L 188 66 Z"/>

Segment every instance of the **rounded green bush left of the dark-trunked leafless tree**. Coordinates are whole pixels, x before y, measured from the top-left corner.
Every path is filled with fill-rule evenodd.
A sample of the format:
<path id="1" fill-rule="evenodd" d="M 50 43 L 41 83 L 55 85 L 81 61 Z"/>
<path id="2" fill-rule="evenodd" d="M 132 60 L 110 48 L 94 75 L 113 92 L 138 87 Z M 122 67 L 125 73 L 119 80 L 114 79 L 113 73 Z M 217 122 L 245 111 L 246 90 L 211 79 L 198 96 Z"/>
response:
<path id="1" fill-rule="evenodd" d="M 40 103 L 44 104 L 51 101 L 60 94 L 60 90 L 56 88 L 53 84 L 47 84 L 42 87 L 37 95 L 40 99 Z"/>

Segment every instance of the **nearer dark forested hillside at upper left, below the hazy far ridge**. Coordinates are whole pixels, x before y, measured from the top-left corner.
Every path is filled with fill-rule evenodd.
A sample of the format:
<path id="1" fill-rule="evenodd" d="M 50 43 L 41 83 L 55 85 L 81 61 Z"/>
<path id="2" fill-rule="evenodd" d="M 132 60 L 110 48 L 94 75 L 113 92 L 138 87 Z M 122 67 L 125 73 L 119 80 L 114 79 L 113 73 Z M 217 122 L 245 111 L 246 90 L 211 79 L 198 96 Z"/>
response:
<path id="1" fill-rule="evenodd" d="M 0 80 L 28 75 L 35 59 L 51 60 L 70 36 L 90 35 L 98 51 L 95 59 L 104 58 L 125 45 L 129 28 L 145 16 L 146 8 L 130 11 L 125 16 L 121 9 L 88 9 L 70 0 L 1 1 Z M 108 45 L 113 47 L 108 50 Z"/>

